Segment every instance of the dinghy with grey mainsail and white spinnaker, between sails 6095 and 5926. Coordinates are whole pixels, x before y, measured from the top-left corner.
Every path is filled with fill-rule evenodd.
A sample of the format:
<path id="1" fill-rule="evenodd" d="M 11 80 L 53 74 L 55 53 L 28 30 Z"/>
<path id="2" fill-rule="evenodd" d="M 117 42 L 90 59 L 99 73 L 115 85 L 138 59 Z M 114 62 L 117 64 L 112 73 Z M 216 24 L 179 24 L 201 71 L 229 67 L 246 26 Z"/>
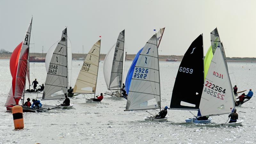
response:
<path id="1" fill-rule="evenodd" d="M 105 92 L 110 96 L 122 97 L 123 70 L 125 61 L 124 30 L 119 33 L 115 46 L 105 57 L 103 72 L 107 88 L 111 92 Z"/>

